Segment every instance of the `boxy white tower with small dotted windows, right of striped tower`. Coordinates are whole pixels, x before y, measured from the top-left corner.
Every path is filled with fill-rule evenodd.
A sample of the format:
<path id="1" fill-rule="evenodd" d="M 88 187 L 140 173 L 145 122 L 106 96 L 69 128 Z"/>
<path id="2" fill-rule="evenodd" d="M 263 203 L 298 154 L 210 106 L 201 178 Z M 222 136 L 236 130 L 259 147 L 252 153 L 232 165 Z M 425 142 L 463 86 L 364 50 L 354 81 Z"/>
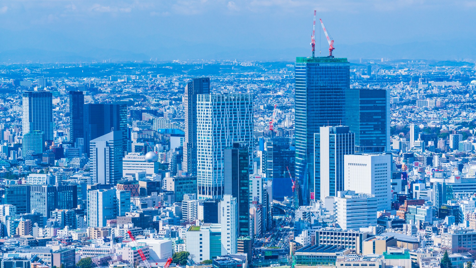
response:
<path id="1" fill-rule="evenodd" d="M 345 189 L 377 197 L 378 211 L 390 209 L 392 155 L 344 156 Z"/>

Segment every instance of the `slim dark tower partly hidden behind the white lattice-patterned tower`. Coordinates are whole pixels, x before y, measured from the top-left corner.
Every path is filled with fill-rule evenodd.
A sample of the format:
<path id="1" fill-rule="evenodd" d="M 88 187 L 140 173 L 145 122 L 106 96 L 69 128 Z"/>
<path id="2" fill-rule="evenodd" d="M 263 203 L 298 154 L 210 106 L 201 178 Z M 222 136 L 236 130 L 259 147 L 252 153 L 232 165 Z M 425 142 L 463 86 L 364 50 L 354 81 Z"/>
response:
<path id="1" fill-rule="evenodd" d="M 197 95 L 210 93 L 210 78 L 196 78 L 185 86 L 185 141 L 182 169 L 197 175 Z"/>

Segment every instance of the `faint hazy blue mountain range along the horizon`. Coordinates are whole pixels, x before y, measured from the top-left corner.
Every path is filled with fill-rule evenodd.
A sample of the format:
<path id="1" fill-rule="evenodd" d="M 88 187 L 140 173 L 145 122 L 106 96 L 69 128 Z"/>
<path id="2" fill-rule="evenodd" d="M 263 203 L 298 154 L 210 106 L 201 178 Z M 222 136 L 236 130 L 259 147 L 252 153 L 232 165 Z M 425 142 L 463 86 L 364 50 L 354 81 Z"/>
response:
<path id="1" fill-rule="evenodd" d="M 427 60 L 476 60 L 476 41 L 415 41 L 396 45 L 377 43 L 359 43 L 346 45 L 336 43 L 334 55 L 349 59 L 427 59 Z M 316 56 L 326 56 L 327 46 Z M 0 47 L 0 62 L 91 62 L 103 60 L 145 61 L 151 58 L 162 61 L 171 60 L 239 60 L 239 61 L 289 61 L 296 56 L 310 56 L 310 46 L 286 49 L 274 48 L 228 48 L 211 44 L 200 44 L 184 47 L 153 48 L 149 52 L 139 53 L 114 49 L 90 49 L 81 52 L 49 51 L 40 48 L 8 50 Z"/>

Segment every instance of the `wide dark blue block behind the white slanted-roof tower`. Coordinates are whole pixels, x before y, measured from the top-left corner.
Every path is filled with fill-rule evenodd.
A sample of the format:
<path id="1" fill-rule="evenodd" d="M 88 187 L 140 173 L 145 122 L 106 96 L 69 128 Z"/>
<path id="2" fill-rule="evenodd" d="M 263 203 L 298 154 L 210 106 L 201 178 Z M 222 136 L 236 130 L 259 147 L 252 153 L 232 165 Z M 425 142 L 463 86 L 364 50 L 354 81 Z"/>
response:
<path id="1" fill-rule="evenodd" d="M 127 128 L 127 104 L 88 103 L 84 104 L 84 144 L 111 131 L 120 131 L 122 151 L 128 151 L 130 139 Z"/>

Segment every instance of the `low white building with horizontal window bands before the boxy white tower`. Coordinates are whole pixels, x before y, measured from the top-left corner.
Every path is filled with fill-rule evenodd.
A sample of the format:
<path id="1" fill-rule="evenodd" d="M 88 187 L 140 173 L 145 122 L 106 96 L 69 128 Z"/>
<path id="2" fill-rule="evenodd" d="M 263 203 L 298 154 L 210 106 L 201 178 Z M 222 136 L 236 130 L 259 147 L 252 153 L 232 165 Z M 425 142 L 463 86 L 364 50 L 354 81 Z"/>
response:
<path id="1" fill-rule="evenodd" d="M 339 191 L 337 203 L 337 223 L 343 230 L 377 225 L 377 198 L 355 191 Z"/>

